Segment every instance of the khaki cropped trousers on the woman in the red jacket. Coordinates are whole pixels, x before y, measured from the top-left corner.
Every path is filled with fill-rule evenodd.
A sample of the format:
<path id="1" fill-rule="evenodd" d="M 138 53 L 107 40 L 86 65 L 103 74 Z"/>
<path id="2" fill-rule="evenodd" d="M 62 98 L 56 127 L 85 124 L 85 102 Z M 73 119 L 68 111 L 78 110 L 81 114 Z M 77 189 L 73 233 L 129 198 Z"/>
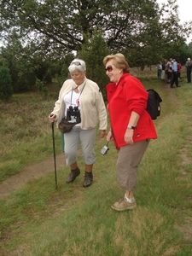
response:
<path id="1" fill-rule="evenodd" d="M 116 164 L 119 185 L 122 189 L 133 191 L 137 186 L 137 168 L 148 148 L 148 140 L 121 147 Z"/>

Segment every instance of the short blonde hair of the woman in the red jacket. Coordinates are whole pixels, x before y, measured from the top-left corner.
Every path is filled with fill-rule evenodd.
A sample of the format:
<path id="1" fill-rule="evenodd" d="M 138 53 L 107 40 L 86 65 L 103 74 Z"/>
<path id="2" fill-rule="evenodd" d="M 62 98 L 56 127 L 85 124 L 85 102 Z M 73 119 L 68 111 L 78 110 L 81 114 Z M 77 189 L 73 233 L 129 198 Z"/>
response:
<path id="1" fill-rule="evenodd" d="M 123 73 L 130 73 L 130 67 L 128 62 L 125 60 L 125 55 L 117 53 L 116 55 L 107 55 L 103 59 L 103 64 L 106 66 L 107 62 L 113 60 L 114 67 L 123 70 Z"/>

